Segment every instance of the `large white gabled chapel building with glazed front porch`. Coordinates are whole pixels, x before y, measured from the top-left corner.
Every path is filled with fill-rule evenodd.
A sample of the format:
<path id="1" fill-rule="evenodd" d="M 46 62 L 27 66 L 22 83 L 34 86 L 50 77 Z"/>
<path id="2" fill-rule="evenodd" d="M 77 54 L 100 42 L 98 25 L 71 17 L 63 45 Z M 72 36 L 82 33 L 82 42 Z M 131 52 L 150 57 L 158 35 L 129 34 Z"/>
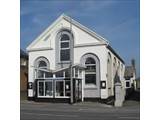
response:
<path id="1" fill-rule="evenodd" d="M 40 34 L 27 52 L 29 100 L 105 101 L 115 95 L 115 82 L 125 91 L 120 55 L 107 39 L 67 15 Z"/>

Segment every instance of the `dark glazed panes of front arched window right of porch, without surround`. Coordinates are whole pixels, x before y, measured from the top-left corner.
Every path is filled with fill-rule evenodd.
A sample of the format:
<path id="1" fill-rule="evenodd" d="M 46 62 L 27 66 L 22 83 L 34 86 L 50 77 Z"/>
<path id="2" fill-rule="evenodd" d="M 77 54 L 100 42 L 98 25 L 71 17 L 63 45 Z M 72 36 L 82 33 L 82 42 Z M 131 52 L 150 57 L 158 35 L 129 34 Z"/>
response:
<path id="1" fill-rule="evenodd" d="M 96 85 L 96 62 L 93 58 L 88 57 L 85 62 L 85 83 Z"/>

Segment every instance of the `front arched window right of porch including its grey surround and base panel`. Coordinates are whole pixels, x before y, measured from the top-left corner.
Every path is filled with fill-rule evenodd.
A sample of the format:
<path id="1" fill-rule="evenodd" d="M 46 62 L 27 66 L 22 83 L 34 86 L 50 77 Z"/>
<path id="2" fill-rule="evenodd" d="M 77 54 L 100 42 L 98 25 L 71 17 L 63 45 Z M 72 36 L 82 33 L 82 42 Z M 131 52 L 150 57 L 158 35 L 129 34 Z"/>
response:
<path id="1" fill-rule="evenodd" d="M 81 57 L 81 64 L 86 67 L 84 74 L 84 97 L 100 97 L 100 60 L 94 53 Z"/>

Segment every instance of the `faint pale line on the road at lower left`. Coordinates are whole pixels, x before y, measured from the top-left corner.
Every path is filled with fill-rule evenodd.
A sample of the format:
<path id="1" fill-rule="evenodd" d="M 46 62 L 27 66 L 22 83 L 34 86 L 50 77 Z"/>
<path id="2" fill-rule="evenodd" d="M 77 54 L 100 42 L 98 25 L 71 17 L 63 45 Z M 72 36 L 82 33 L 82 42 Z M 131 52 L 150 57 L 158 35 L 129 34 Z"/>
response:
<path id="1" fill-rule="evenodd" d="M 78 117 L 78 115 L 42 114 L 42 113 L 30 113 L 30 112 L 24 112 L 22 114 L 40 115 L 40 116 Z"/>

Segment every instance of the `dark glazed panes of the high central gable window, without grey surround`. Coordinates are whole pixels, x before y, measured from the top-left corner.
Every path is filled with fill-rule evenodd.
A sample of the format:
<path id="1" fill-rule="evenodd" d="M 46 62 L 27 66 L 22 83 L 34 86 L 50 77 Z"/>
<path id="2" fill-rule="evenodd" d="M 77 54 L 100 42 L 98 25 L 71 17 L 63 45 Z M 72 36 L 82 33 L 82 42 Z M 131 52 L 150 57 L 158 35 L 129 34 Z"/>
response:
<path id="1" fill-rule="evenodd" d="M 60 36 L 60 61 L 70 60 L 70 36 L 62 32 Z"/>

